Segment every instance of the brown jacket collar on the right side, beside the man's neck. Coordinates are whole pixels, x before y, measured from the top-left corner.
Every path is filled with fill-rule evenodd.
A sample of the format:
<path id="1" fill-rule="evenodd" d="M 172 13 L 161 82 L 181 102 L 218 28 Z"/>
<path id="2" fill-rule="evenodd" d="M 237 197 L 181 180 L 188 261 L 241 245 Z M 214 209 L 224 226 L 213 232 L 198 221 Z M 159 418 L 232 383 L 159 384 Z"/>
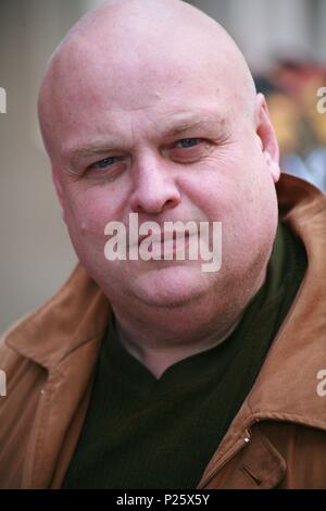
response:
<path id="1" fill-rule="evenodd" d="M 279 215 L 302 240 L 308 270 L 248 398 L 255 419 L 290 420 L 326 429 L 317 373 L 326 369 L 326 198 L 308 183 L 284 175 Z"/>

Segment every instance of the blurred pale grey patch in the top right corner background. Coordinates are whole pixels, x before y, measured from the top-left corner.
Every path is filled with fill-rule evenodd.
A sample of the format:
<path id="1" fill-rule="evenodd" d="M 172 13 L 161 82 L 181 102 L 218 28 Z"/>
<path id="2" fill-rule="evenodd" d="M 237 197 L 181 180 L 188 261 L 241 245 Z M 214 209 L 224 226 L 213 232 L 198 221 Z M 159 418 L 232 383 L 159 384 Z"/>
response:
<path id="1" fill-rule="evenodd" d="M 326 0 L 188 0 L 221 21 L 253 70 L 281 54 L 326 62 Z"/>

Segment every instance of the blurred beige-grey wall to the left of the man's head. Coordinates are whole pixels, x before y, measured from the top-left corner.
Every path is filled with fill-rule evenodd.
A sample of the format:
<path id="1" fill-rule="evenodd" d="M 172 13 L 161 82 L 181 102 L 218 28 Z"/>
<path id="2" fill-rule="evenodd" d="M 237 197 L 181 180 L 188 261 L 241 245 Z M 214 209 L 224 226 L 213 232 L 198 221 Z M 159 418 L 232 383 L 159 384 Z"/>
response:
<path id="1" fill-rule="evenodd" d="M 0 1 L 0 332 L 50 297 L 75 263 L 36 120 L 49 54 L 80 15 L 76 0 Z"/>

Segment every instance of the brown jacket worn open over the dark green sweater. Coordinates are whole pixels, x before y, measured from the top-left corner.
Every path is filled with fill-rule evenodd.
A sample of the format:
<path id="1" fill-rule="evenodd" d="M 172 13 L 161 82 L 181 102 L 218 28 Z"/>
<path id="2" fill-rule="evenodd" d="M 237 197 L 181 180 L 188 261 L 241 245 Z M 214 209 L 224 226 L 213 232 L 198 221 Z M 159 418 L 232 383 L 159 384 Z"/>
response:
<path id="1" fill-rule="evenodd" d="M 317 392 L 317 373 L 326 370 L 326 198 L 289 176 L 277 192 L 280 217 L 302 239 L 309 267 L 199 488 L 326 488 L 326 397 Z M 0 488 L 60 488 L 109 319 L 105 296 L 78 265 L 2 338 Z"/>

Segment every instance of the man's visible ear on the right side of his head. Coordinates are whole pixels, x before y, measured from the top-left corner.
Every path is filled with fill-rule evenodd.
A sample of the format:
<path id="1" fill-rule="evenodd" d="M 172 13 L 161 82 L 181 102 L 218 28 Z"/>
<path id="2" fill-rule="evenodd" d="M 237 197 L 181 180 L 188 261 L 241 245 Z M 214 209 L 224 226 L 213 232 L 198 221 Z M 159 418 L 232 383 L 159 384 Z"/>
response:
<path id="1" fill-rule="evenodd" d="M 278 142 L 269 117 L 268 107 L 262 94 L 259 94 L 255 99 L 255 122 L 256 135 L 261 140 L 263 155 L 274 183 L 277 183 L 280 175 Z"/>

